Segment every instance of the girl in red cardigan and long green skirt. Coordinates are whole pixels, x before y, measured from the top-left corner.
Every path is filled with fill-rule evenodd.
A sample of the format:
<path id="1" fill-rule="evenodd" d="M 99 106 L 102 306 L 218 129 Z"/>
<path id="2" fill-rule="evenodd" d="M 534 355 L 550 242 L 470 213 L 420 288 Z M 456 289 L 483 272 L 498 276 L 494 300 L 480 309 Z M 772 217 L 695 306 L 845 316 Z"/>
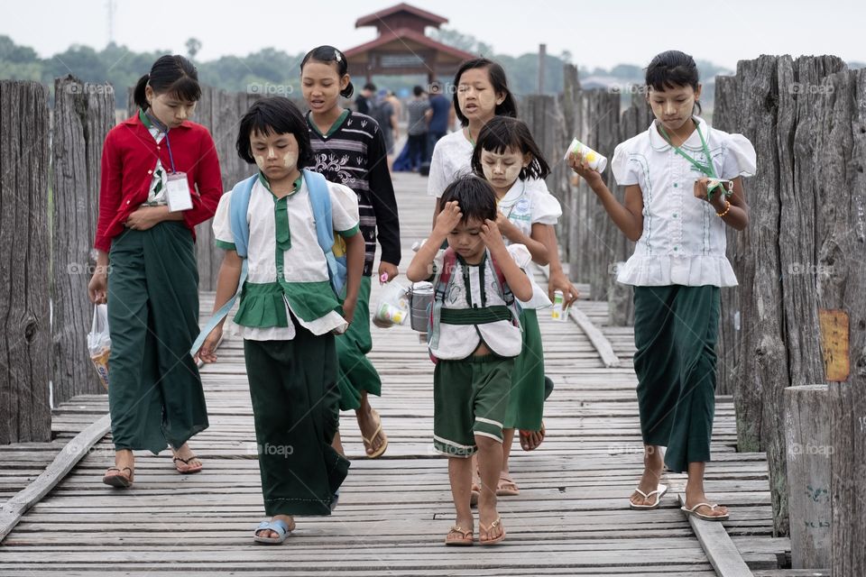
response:
<path id="1" fill-rule="evenodd" d="M 163 56 L 135 87 L 138 114 L 115 126 L 102 153 L 97 270 L 88 292 L 108 303 L 108 406 L 115 466 L 103 482 L 129 487 L 134 450 L 169 445 L 180 473 L 201 471 L 187 440 L 207 428 L 189 347 L 198 334 L 195 226 L 222 194 L 207 129 L 189 122 L 198 72 Z"/>

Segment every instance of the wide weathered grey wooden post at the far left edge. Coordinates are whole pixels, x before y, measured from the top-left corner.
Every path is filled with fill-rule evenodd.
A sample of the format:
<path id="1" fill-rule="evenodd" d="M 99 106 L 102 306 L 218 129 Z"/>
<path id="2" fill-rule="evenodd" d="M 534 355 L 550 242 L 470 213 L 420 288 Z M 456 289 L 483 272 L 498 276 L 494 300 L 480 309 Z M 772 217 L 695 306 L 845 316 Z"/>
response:
<path id="1" fill-rule="evenodd" d="M 0 444 L 51 439 L 48 88 L 0 80 Z"/>

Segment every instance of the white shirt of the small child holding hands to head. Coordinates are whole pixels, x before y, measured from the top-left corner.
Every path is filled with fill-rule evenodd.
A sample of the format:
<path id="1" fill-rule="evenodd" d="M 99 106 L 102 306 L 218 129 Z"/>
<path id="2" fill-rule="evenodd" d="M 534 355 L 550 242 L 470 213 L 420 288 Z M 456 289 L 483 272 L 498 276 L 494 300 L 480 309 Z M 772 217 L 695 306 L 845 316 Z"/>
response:
<path id="1" fill-rule="evenodd" d="M 521 269 L 525 270 L 532 257 L 529 249 L 523 244 L 511 244 L 508 247 L 511 258 L 517 262 Z M 439 251 L 434 264 L 436 270 L 442 270 L 445 251 Z M 469 300 L 466 298 L 466 288 L 463 277 L 464 266 L 459 259 L 455 262 L 451 273 L 451 281 L 448 286 L 443 308 L 467 309 Z M 482 302 L 481 289 L 481 266 L 468 267 L 469 270 L 469 297 L 474 307 L 504 306 L 499 289 L 499 281 L 496 279 L 496 271 L 490 259 L 484 260 L 484 302 Z M 484 325 L 448 325 L 439 323 L 439 342 L 436 349 L 430 348 L 430 353 L 437 359 L 459 360 L 472 355 L 481 340 L 493 353 L 501 357 L 516 357 L 521 353 L 523 340 L 521 328 L 514 326 L 510 320 L 496 321 Z"/>

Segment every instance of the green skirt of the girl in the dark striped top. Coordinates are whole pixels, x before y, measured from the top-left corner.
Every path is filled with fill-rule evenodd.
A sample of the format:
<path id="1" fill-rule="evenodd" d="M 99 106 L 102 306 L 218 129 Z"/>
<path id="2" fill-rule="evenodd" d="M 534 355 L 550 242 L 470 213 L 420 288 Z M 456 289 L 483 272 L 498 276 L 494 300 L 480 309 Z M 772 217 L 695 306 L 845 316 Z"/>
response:
<path id="1" fill-rule="evenodd" d="M 336 384 L 340 389 L 340 410 L 361 407 L 361 393 L 382 395 L 382 379 L 367 358 L 373 350 L 370 335 L 370 277 L 361 277 L 358 304 L 352 324 L 336 336 L 336 358 L 339 361 Z"/>

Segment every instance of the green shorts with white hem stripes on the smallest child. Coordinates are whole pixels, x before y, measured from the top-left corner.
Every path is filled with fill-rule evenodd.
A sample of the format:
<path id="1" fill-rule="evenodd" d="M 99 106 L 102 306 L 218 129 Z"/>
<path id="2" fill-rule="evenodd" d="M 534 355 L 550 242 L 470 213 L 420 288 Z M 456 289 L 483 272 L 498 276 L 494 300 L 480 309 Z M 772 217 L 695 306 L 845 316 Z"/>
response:
<path id="1" fill-rule="evenodd" d="M 478 450 L 475 435 L 502 443 L 514 359 L 493 354 L 440 360 L 433 371 L 433 446 L 449 457 Z"/>

